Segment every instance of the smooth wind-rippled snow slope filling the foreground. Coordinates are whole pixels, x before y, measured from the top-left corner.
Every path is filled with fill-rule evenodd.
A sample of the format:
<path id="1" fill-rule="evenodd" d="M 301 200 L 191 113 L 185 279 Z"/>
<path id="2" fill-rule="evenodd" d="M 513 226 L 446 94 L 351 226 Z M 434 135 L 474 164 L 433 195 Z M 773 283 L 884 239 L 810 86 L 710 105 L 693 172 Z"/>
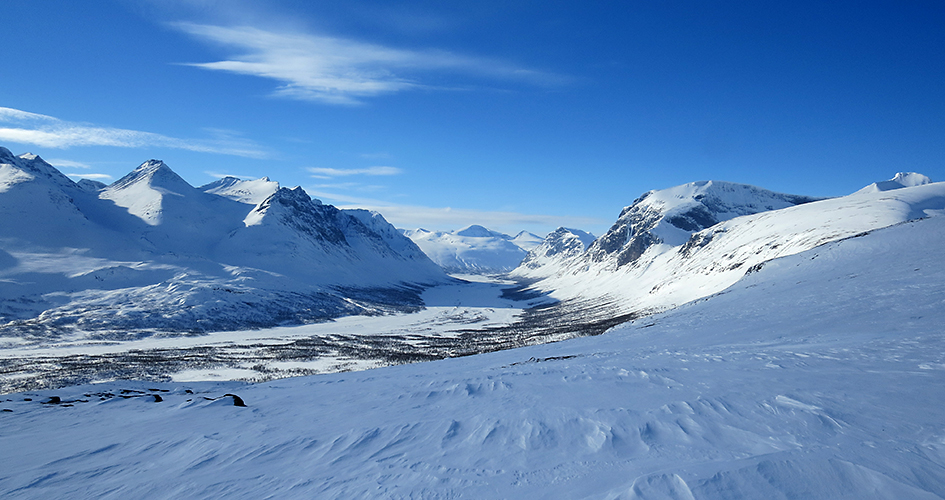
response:
<path id="1" fill-rule="evenodd" d="M 898 224 L 604 335 L 479 356 L 9 394 L 0 492 L 942 498 L 943 247 L 945 217 Z"/>

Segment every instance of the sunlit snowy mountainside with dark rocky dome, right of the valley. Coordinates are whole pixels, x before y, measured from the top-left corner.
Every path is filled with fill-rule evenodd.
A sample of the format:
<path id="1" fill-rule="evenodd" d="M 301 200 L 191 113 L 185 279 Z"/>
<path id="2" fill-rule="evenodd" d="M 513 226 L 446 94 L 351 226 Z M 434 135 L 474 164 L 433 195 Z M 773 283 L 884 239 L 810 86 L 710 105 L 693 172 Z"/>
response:
<path id="1" fill-rule="evenodd" d="M 824 200 L 712 181 L 650 191 L 583 254 L 512 274 L 561 300 L 642 314 L 720 292 L 771 259 L 945 210 L 945 183 L 919 174 L 874 186 Z"/>

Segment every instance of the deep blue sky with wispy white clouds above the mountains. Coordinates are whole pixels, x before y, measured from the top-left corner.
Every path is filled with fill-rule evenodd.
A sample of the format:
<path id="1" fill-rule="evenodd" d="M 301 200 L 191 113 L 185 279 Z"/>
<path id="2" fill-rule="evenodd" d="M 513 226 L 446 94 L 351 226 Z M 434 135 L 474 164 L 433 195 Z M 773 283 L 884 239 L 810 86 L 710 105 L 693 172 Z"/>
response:
<path id="1" fill-rule="evenodd" d="M 945 180 L 945 3 L 0 3 L 0 145 L 398 227 L 601 234 L 649 189 Z"/>

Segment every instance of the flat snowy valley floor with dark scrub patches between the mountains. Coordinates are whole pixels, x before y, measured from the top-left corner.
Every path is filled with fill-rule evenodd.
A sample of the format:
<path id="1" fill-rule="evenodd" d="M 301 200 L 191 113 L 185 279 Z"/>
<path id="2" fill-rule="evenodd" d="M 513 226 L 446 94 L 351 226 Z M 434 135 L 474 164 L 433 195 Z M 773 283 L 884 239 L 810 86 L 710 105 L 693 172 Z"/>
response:
<path id="1" fill-rule="evenodd" d="M 90 334 L 42 343 L 0 338 L 0 393 L 116 378 L 261 381 L 442 359 L 478 352 L 476 332 L 508 327 L 526 308 L 548 302 L 505 297 L 515 282 L 499 277 L 457 278 L 462 281 L 425 290 L 425 309 L 413 313 L 201 335 L 130 335 L 136 340 L 128 341 Z"/>

